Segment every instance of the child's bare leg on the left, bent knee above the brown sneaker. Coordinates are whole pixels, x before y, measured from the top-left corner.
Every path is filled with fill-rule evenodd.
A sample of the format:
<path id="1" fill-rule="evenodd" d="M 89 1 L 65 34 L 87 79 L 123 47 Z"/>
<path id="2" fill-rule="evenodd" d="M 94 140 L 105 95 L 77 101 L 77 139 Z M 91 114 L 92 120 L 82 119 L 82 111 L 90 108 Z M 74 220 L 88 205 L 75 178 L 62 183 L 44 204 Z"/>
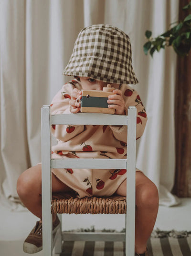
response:
<path id="1" fill-rule="evenodd" d="M 20 175 L 17 181 L 17 193 L 26 208 L 42 220 L 41 167 L 41 164 L 35 165 Z M 52 192 L 71 190 L 52 174 Z M 53 214 L 53 221 L 55 217 L 56 215 Z"/>

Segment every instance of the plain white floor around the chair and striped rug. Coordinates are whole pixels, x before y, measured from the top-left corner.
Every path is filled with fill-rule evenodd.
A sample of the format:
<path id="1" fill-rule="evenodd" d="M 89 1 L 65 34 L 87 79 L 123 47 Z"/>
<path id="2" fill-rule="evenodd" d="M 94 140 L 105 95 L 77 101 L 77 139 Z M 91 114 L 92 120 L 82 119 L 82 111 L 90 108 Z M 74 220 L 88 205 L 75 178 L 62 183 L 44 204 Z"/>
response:
<path id="1" fill-rule="evenodd" d="M 181 204 L 174 207 L 159 206 L 154 229 L 191 231 L 191 198 L 181 198 Z M 101 217 L 100 217 L 101 216 Z M 63 215 L 63 230 L 91 228 L 96 230 L 115 229 L 121 231 L 125 226 L 123 215 Z M 22 252 L 22 242 L 38 221 L 29 211 L 11 211 L 0 207 L 0 256 L 26 256 Z M 112 224 L 111 224 L 112 223 Z M 42 255 L 41 252 L 36 256 Z"/>

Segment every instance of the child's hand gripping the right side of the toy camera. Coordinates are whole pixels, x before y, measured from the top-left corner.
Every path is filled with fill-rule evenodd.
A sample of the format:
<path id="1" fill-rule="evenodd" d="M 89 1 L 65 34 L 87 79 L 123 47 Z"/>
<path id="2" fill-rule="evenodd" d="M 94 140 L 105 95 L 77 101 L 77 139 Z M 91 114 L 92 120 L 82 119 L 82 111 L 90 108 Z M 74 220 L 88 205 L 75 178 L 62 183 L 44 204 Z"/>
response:
<path id="1" fill-rule="evenodd" d="M 113 90 L 114 95 L 109 95 L 107 103 L 112 105 L 108 105 L 109 108 L 115 109 L 115 114 L 117 115 L 125 115 L 125 101 L 122 96 L 122 92 L 118 89 Z"/>

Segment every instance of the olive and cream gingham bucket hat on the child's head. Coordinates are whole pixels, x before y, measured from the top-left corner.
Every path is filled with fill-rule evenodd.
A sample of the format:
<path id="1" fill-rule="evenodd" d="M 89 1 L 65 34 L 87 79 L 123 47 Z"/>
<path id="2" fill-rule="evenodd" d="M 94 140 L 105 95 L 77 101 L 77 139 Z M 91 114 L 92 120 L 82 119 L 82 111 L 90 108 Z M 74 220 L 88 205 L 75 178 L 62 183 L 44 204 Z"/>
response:
<path id="1" fill-rule="evenodd" d="M 136 84 L 131 56 L 130 39 L 122 30 L 107 24 L 91 25 L 79 33 L 63 74 Z"/>

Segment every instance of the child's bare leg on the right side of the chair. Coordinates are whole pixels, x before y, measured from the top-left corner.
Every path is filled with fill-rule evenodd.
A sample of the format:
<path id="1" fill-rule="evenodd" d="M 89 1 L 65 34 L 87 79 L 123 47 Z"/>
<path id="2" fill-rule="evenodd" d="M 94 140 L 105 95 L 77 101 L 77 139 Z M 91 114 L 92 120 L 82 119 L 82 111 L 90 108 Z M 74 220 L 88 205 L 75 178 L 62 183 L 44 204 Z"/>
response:
<path id="1" fill-rule="evenodd" d="M 126 196 L 126 180 L 116 193 Z M 155 184 L 142 172 L 136 172 L 136 215 L 135 215 L 135 251 L 144 253 L 147 241 L 155 225 L 159 208 L 159 194 Z"/>

